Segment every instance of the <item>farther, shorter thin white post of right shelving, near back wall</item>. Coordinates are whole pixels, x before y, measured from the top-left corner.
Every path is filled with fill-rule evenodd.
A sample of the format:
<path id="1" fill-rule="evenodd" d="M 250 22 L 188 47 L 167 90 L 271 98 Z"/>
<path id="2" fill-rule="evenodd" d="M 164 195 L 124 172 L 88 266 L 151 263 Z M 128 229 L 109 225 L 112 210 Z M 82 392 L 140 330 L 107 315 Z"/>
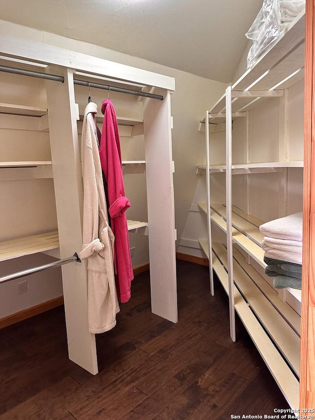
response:
<path id="1" fill-rule="evenodd" d="M 206 121 L 209 121 L 209 111 L 206 111 Z M 212 296 L 215 294 L 213 282 L 213 263 L 212 263 L 212 235 L 211 235 L 211 195 L 210 195 L 210 131 L 209 124 L 206 124 L 206 185 L 207 185 L 207 223 L 208 223 L 208 255 L 209 255 L 209 274 L 210 274 L 210 291 Z"/>

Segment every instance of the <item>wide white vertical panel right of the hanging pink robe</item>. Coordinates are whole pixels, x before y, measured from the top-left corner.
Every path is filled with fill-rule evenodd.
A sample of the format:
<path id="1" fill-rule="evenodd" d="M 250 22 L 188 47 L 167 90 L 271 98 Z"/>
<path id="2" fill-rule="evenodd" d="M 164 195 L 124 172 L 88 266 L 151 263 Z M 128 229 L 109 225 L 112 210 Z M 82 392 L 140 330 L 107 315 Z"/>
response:
<path id="1" fill-rule="evenodd" d="M 177 286 L 170 91 L 144 99 L 152 312 L 177 322 Z"/>

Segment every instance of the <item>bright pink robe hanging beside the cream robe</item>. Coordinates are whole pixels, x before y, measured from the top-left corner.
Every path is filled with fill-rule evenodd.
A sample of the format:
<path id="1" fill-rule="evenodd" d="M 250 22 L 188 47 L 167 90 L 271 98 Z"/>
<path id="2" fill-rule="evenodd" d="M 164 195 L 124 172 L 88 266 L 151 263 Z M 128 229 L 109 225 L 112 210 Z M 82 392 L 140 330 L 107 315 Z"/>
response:
<path id="1" fill-rule="evenodd" d="M 116 112 L 110 99 L 102 103 L 104 114 L 102 136 L 99 147 L 100 162 L 107 183 L 106 194 L 109 205 L 111 228 L 115 235 L 114 268 L 117 295 L 121 302 L 130 298 L 133 279 L 126 209 L 130 202 L 125 196 L 122 156 Z"/>

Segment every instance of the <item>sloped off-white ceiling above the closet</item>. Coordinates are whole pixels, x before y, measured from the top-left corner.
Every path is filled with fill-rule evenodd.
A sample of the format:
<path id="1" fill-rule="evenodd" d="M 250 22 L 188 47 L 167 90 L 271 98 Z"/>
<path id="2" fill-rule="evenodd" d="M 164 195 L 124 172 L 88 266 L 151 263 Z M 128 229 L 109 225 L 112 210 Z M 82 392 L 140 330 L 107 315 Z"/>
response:
<path id="1" fill-rule="evenodd" d="M 0 19 L 230 82 L 262 0 L 1 0 Z"/>

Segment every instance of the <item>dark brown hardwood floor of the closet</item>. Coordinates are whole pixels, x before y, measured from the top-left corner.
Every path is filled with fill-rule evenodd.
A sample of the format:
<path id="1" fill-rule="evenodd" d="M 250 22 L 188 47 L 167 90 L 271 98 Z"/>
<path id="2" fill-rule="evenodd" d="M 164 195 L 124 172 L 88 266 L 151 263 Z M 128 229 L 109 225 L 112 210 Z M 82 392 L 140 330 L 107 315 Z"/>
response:
<path id="1" fill-rule="evenodd" d="M 179 322 L 151 313 L 149 272 L 138 274 L 117 326 L 96 336 L 98 375 L 68 359 L 63 307 L 0 330 L 0 420 L 228 420 L 288 408 L 240 322 L 231 342 L 208 267 L 177 270 Z"/>

